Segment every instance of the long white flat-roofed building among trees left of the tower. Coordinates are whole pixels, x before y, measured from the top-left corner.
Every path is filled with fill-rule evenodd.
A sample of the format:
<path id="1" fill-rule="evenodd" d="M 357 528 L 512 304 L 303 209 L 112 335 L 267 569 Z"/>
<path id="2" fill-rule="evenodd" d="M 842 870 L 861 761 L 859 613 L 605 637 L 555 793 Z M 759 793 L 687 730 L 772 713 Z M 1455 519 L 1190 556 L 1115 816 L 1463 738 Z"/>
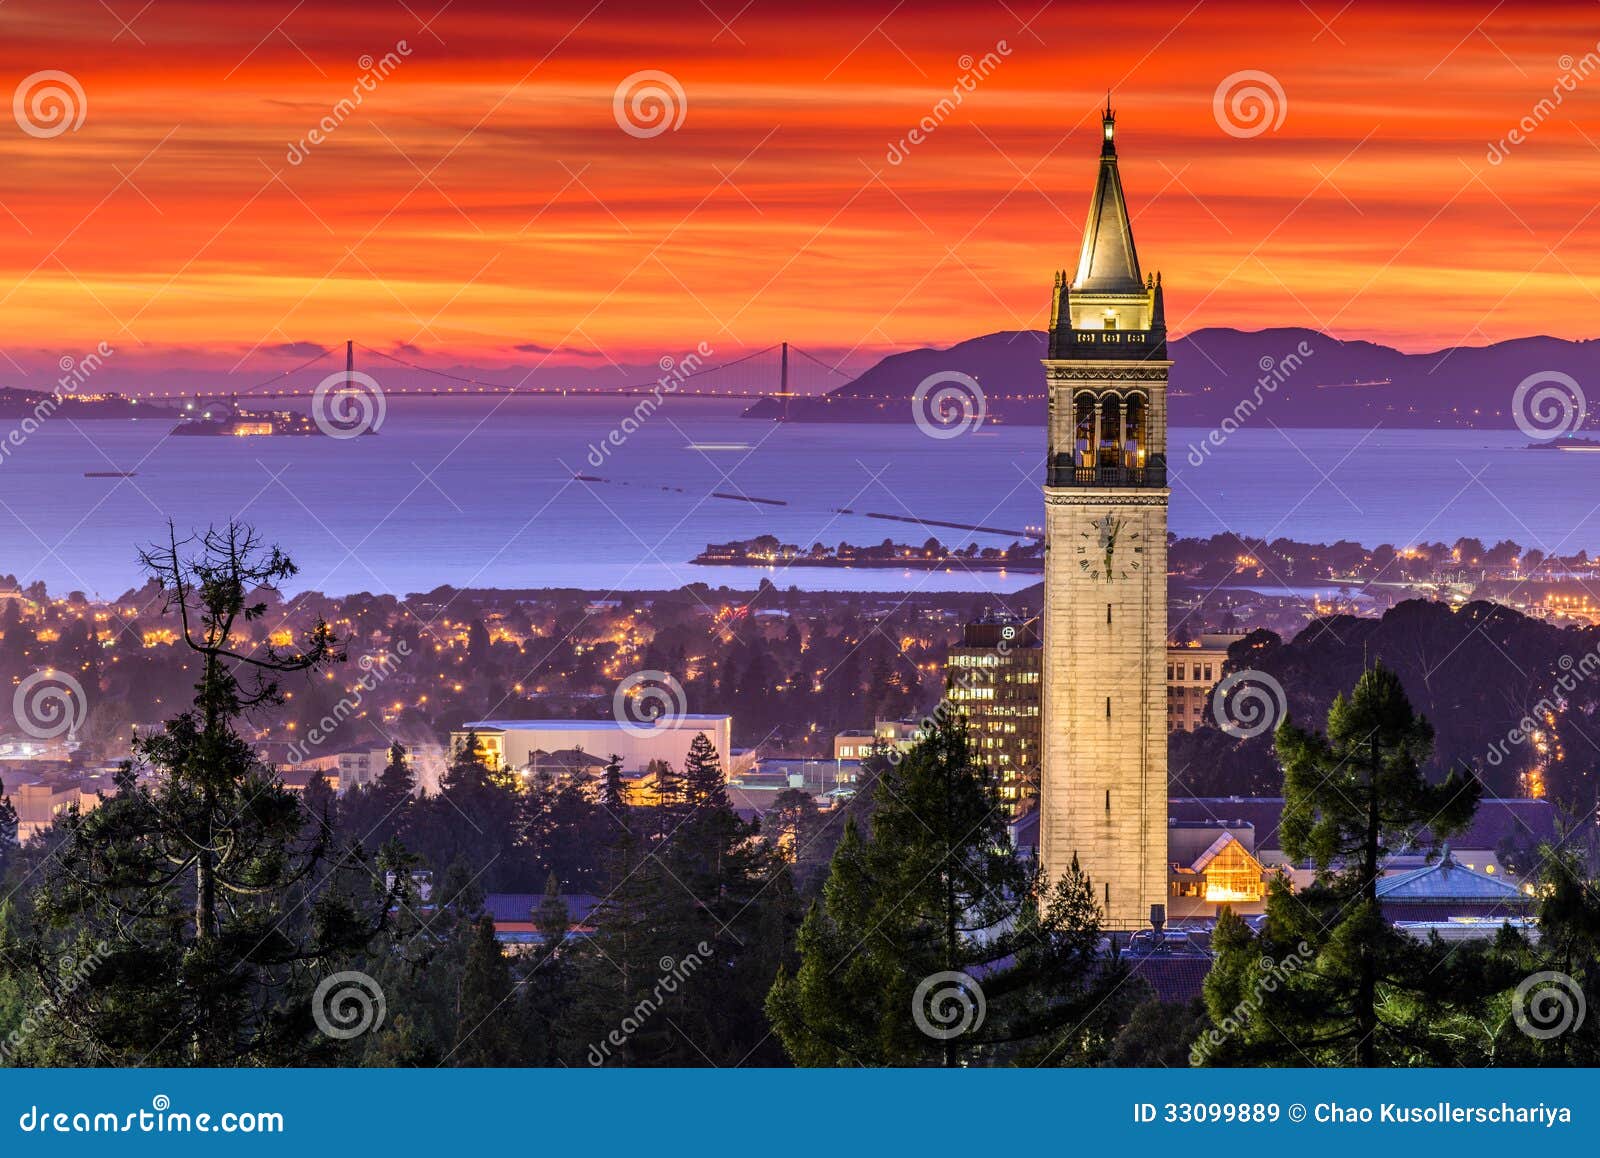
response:
<path id="1" fill-rule="evenodd" d="M 733 771 L 731 715 L 682 715 L 650 728 L 624 728 L 616 720 L 475 720 L 451 733 L 451 749 L 469 731 L 477 733 L 485 755 L 496 766 L 525 768 L 534 752 L 581 749 L 602 760 L 621 757 L 626 773 L 642 773 L 651 760 L 666 760 L 683 771 L 690 744 L 696 734 L 706 733 L 706 739 L 722 757 L 723 771 Z"/>

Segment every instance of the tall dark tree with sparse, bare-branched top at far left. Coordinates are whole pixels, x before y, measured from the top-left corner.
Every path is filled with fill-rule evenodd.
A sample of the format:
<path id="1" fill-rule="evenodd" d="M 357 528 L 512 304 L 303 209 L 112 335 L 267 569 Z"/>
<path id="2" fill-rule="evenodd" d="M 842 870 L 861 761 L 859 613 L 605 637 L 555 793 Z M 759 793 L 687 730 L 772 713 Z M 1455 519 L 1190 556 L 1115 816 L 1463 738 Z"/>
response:
<path id="1" fill-rule="evenodd" d="M 13 948 L 53 996 L 48 1064 L 296 1064 L 333 1056 L 312 988 L 382 931 L 392 896 L 358 849 L 306 822 L 235 721 L 280 681 L 342 659 L 317 621 L 291 649 L 245 629 L 294 574 L 230 523 L 142 553 L 200 667 L 194 707 L 139 739 L 115 793 L 69 811 Z M 267 632 L 253 632 L 266 637 Z M 149 777 L 138 769 L 147 768 Z M 70 976 L 64 961 L 75 961 Z"/>

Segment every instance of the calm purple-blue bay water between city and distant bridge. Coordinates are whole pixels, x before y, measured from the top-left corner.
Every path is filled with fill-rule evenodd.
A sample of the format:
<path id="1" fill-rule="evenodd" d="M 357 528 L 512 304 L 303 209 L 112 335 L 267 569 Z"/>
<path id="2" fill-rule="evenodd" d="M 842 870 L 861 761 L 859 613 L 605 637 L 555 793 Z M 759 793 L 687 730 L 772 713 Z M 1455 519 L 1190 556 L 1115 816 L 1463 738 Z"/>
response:
<path id="1" fill-rule="evenodd" d="M 627 401 L 390 400 L 376 438 L 170 438 L 165 424 L 51 419 L 0 462 L 0 571 L 117 595 L 134 549 L 238 517 L 346 593 L 478 587 L 662 589 L 691 581 L 854 590 L 1016 590 L 1037 576 L 698 568 L 710 541 L 1003 545 L 859 512 L 1003 529 L 1038 525 L 1043 430 L 934 440 L 906 425 L 746 422 L 738 405 L 670 398 L 595 465 Z M 1600 549 L 1600 456 L 1525 451 L 1515 430 L 1242 430 L 1198 467 L 1174 430 L 1173 529 L 1408 544 L 1512 537 Z M 699 446 L 699 449 L 696 449 Z M 138 470 L 131 480 L 85 470 Z M 1482 475 L 1478 475 L 1482 472 Z M 606 483 L 574 481 L 574 473 Z M 1474 475 L 1478 475 L 1474 478 Z M 714 491 L 782 499 L 771 507 Z M 834 513 L 851 507 L 856 515 Z"/>

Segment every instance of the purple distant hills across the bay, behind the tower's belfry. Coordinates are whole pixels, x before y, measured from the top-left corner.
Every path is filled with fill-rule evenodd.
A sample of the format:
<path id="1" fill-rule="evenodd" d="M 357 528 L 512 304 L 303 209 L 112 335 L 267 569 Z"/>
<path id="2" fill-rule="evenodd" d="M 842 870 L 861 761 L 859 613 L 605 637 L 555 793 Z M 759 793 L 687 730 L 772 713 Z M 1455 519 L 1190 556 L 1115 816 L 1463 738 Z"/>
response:
<path id="1" fill-rule="evenodd" d="M 1304 345 L 1301 345 L 1304 342 Z M 1301 350 L 1307 353 L 1301 355 Z M 1283 358 L 1299 361 L 1264 390 L 1259 381 Z M 962 371 L 984 389 L 989 421 L 1043 425 L 1045 334 L 1010 329 L 944 350 L 891 353 L 861 377 L 818 398 L 795 398 L 797 422 L 906 422 L 917 385 L 938 371 Z M 1600 341 L 1517 337 L 1402 353 L 1376 342 L 1344 342 L 1315 329 L 1197 329 L 1168 344 L 1171 425 L 1216 425 L 1245 398 L 1262 393 L 1278 425 L 1510 429 L 1510 398 L 1528 374 L 1560 371 L 1589 390 L 1586 427 L 1600 429 Z M 1266 371 L 1264 368 L 1266 366 Z M 774 419 L 782 405 L 763 398 L 746 417 Z"/>

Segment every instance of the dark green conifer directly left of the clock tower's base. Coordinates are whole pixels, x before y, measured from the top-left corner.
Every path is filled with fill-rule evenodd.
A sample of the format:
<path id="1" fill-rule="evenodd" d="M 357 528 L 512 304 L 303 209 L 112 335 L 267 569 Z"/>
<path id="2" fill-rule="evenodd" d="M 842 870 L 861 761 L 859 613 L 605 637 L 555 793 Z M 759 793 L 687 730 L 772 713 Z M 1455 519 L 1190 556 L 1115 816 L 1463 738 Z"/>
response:
<path id="1" fill-rule="evenodd" d="M 1077 864 L 1046 888 L 1005 835 L 966 725 L 944 718 L 851 822 L 797 969 L 766 1000 L 800 1065 L 1101 1060 L 1134 996 L 1098 955 L 1101 913 Z"/>

